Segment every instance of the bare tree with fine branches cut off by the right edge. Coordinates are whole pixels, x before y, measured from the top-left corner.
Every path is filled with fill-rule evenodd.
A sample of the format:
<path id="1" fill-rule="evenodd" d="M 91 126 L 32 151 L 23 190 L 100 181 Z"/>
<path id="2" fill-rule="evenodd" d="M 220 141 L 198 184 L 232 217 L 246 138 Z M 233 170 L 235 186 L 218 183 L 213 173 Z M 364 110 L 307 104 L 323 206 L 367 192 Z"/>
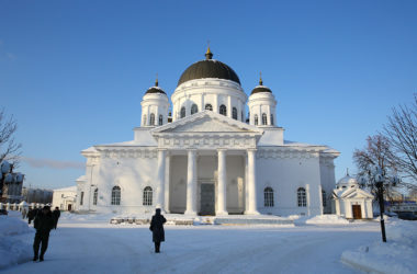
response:
<path id="1" fill-rule="evenodd" d="M 384 126 L 384 135 L 390 141 L 398 170 L 407 182 L 404 185 L 417 189 L 417 94 L 408 107 L 394 107 L 388 123 Z"/>

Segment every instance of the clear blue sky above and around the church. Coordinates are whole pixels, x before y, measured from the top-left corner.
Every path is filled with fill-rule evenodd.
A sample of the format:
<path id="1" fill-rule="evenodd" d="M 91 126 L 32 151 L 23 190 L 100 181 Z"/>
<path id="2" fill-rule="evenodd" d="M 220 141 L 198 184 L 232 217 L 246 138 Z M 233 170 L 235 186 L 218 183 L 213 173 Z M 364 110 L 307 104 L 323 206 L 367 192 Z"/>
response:
<path id="1" fill-rule="evenodd" d="M 285 139 L 352 151 L 417 92 L 416 1 L 1 1 L 0 106 L 19 123 L 26 185 L 83 174 L 79 153 L 131 140 L 159 75 L 214 58 L 246 93 L 259 71 Z"/>

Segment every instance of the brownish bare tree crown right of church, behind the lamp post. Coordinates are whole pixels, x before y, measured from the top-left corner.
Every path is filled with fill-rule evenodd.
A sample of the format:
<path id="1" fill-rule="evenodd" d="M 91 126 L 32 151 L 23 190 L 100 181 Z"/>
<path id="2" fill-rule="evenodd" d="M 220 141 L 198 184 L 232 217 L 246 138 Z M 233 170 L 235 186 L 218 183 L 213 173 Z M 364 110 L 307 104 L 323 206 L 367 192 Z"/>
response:
<path id="1" fill-rule="evenodd" d="M 395 156 L 392 152 L 391 142 L 382 134 L 368 136 L 367 146 L 363 149 L 353 151 L 353 162 L 357 164 L 359 174 L 364 174 L 370 167 L 377 165 L 387 174 L 397 173 L 397 164 Z M 373 194 L 376 193 L 375 187 L 371 187 Z M 385 190 L 388 199 L 393 199 L 393 190 Z"/>

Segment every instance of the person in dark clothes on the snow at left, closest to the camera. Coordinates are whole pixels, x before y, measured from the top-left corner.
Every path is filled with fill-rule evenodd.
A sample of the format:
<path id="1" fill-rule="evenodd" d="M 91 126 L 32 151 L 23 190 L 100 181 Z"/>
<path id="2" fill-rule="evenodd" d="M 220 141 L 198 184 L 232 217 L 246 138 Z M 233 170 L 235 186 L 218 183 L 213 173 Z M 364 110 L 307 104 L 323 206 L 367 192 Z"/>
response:
<path id="1" fill-rule="evenodd" d="M 54 228 L 54 217 L 52 215 L 49 206 L 44 206 L 44 208 L 42 208 L 42 213 L 35 217 L 33 224 L 34 228 L 36 229 L 35 239 L 33 241 L 33 261 L 36 261 L 38 258 L 42 262 L 44 261 L 44 254 L 48 248 L 50 229 Z M 41 256 L 38 256 L 41 242 Z"/>

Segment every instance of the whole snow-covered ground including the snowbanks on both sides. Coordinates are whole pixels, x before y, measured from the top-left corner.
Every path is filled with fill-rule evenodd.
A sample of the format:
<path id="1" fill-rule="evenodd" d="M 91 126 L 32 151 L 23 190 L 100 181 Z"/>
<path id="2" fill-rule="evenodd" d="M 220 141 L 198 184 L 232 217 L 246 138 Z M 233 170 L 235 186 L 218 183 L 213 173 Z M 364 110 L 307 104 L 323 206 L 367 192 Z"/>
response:
<path id="1" fill-rule="evenodd" d="M 417 270 L 416 221 L 390 219 L 387 244 L 380 243 L 377 221 L 347 222 L 336 216 L 292 216 L 294 227 L 166 226 L 167 241 L 156 254 L 148 226 L 111 225 L 110 217 L 64 213 L 50 232 L 45 261 L 36 263 L 31 261 L 34 230 L 16 214 L 0 217 L 0 272 L 358 273 L 375 271 L 372 265 L 387 254 L 402 267 L 381 273 Z M 14 235 L 4 236 L 11 230 Z"/>

